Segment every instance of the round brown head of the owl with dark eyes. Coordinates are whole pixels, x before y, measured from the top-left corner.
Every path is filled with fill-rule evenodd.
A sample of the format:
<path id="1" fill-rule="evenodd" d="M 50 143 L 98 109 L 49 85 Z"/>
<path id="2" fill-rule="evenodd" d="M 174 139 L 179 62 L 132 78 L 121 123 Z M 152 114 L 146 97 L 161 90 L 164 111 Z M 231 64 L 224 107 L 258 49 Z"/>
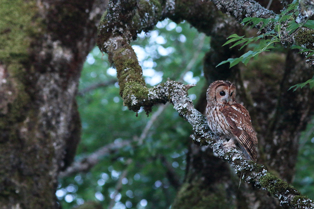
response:
<path id="1" fill-rule="evenodd" d="M 207 102 L 231 105 L 235 101 L 236 86 L 229 81 L 214 81 L 207 89 Z"/>

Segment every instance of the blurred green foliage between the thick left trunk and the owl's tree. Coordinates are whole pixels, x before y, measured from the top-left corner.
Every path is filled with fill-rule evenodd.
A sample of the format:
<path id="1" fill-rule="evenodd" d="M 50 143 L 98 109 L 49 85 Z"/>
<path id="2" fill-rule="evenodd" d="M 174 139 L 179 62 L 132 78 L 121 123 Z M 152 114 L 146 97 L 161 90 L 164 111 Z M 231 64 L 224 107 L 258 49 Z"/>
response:
<path id="1" fill-rule="evenodd" d="M 210 38 L 187 23 L 177 25 L 164 20 L 150 33 L 139 34 L 132 44 L 148 87 L 168 78 L 197 83 L 189 90 L 196 102 L 205 82 L 201 75 L 209 41 Z M 113 208 L 121 209 L 169 208 L 176 196 L 174 182 L 181 184 L 184 178 L 192 128 L 172 105 L 167 105 L 145 135 L 143 144 L 138 144 L 158 106 L 149 117 L 141 110 L 135 117 L 135 112 L 123 106 L 115 81 L 115 69 L 110 66 L 107 55 L 94 48 L 87 56 L 79 84 L 77 101 L 82 140 L 75 160 L 108 144 L 123 140 L 132 143 L 108 153 L 88 173 L 61 179 L 57 197 L 64 209 L 88 201 L 99 201 L 103 208 L 112 203 Z M 92 88 L 96 84 L 105 86 Z M 169 172 L 178 182 L 169 178 Z M 126 175 L 121 179 L 123 174 Z M 122 187 L 115 193 L 118 182 Z"/>

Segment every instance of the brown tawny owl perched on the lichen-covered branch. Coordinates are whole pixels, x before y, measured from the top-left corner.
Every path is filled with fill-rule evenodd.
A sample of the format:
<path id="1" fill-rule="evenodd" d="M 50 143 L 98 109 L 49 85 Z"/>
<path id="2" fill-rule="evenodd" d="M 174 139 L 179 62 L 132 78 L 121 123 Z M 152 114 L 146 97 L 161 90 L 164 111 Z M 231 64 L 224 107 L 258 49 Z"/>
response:
<path id="1" fill-rule="evenodd" d="M 236 87 L 229 81 L 215 81 L 206 96 L 209 128 L 220 138 L 230 139 L 224 143 L 226 147 L 238 144 L 247 159 L 256 161 L 256 133 L 249 112 L 235 101 Z"/>

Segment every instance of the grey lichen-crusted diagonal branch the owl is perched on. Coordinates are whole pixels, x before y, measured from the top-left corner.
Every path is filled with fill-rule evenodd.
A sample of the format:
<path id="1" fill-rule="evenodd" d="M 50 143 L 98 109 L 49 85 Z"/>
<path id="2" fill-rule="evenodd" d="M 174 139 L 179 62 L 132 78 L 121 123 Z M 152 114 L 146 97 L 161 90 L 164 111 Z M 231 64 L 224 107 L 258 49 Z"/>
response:
<path id="1" fill-rule="evenodd" d="M 287 203 L 292 208 L 314 208 L 314 203 L 310 199 L 302 196 L 287 182 L 268 173 L 265 166 L 245 159 L 238 149 L 225 148 L 222 144 L 225 140 L 213 135 L 208 128 L 206 118 L 193 107 L 185 85 L 167 81 L 149 89 L 149 99 L 171 102 L 176 111 L 192 125 L 194 133 L 191 137 L 194 142 L 210 145 L 219 157 L 230 163 L 244 181 L 268 191 L 272 196 L 279 198 L 281 204 Z"/>

